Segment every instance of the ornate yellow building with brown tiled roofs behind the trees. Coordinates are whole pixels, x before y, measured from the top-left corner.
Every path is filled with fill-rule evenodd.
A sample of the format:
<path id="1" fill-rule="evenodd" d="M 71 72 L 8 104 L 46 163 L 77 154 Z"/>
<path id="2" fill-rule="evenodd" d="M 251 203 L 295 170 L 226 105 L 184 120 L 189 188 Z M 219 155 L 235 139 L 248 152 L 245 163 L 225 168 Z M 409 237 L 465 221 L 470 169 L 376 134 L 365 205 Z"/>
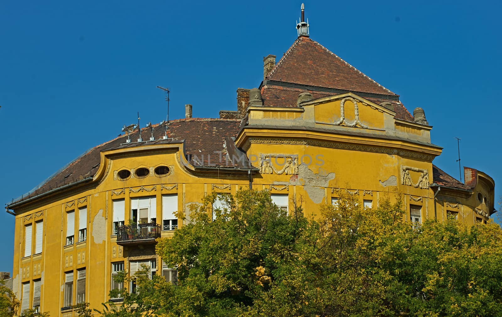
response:
<path id="1" fill-rule="evenodd" d="M 237 110 L 192 118 L 186 105 L 183 119 L 124 127 L 7 206 L 21 309 L 67 317 L 79 302 L 98 308 L 123 287 L 113 275 L 141 264 L 175 280 L 155 238 L 171 236 L 183 226 L 179 213 L 189 221 L 189 206 L 214 192 L 269 190 L 288 213 L 299 196 L 315 211 L 336 203 L 338 190 L 365 207 L 399 190 L 405 220 L 488 220 L 493 180 L 464 168 L 463 184 L 434 166 L 441 147 L 423 109 L 412 115 L 397 94 L 313 41 L 303 7 L 301 20 L 286 54 L 264 58 L 260 86 L 237 89 Z"/>

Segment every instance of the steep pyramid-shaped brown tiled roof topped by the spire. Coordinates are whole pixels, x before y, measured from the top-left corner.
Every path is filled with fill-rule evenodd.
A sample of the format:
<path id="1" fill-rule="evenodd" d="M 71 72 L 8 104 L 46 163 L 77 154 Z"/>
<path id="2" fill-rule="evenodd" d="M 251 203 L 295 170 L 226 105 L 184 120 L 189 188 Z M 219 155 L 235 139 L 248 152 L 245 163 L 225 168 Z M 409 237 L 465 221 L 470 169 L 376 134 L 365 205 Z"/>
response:
<path id="1" fill-rule="evenodd" d="M 267 79 L 397 96 L 308 37 L 299 37 L 293 43 Z"/>

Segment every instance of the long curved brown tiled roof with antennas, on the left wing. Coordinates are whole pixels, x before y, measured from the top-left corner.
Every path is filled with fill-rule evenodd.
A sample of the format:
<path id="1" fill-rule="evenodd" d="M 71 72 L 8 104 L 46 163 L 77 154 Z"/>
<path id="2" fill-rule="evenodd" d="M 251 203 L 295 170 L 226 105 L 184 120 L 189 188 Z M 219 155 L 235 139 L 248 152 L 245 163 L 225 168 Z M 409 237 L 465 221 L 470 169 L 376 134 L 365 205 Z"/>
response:
<path id="1" fill-rule="evenodd" d="M 169 121 L 168 136 L 176 140 L 185 140 L 185 154 L 194 158 L 197 155 L 199 166 L 222 166 L 234 167 L 231 162 L 225 160 L 226 143 L 225 137 L 235 136 L 239 129 L 240 120 L 234 119 L 179 119 Z M 154 126 L 154 137 L 159 140 L 164 135 L 164 125 Z M 143 139 L 150 138 L 149 128 L 142 129 Z M 131 133 L 131 140 L 134 142 L 139 138 L 139 131 Z M 23 195 L 17 201 L 25 200 L 29 197 L 48 192 L 61 186 L 75 183 L 93 177 L 99 169 L 100 152 L 113 148 L 121 147 L 121 144 L 127 140 L 127 134 L 120 135 L 108 142 L 97 145 L 86 153 L 76 158 L 61 171 L 56 172 L 42 186 L 32 191 L 30 194 Z M 129 146 L 148 144 L 148 142 L 130 143 Z M 222 162 L 219 160 L 219 154 L 214 151 L 222 152 Z M 208 158 L 210 155 L 210 162 Z M 192 160 L 193 162 L 193 160 Z"/>

